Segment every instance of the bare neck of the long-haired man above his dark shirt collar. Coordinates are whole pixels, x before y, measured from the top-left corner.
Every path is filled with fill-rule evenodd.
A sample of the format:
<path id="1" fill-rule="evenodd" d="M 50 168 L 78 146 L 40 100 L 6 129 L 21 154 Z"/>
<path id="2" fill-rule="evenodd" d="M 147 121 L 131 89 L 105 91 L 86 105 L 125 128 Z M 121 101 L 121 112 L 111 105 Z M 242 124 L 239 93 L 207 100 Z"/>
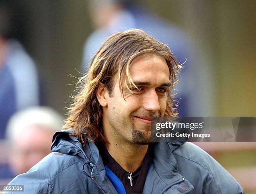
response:
<path id="1" fill-rule="evenodd" d="M 125 171 L 134 172 L 142 165 L 148 145 L 109 143 L 106 148 L 108 153 Z"/>

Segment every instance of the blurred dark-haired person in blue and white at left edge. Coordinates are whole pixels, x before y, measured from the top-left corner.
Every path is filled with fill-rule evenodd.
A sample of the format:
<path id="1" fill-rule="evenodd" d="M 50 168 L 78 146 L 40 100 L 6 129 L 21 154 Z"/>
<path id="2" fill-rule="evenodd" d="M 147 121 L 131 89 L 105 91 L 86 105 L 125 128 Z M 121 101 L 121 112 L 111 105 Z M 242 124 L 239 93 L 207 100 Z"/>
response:
<path id="1" fill-rule="evenodd" d="M 14 7 L 15 1 L 0 1 L 0 139 L 11 115 L 42 100 L 36 65 L 16 40 L 24 26 Z"/>

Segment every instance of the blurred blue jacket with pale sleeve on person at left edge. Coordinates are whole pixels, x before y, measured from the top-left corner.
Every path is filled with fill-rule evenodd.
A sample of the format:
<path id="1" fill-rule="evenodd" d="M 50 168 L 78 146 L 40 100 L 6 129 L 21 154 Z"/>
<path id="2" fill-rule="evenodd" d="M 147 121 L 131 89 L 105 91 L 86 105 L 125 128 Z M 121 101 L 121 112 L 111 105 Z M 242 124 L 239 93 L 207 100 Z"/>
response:
<path id="1" fill-rule="evenodd" d="M 0 139 L 9 118 L 26 107 L 40 104 L 36 65 L 18 41 L 8 41 L 8 54 L 0 69 Z"/>

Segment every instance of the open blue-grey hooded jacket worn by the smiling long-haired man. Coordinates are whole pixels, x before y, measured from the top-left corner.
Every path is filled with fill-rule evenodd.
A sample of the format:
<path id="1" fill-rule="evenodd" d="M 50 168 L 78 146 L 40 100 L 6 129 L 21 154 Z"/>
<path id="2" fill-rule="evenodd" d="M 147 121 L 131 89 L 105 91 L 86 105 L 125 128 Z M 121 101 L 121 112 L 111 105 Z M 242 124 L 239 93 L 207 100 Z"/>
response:
<path id="1" fill-rule="evenodd" d="M 53 152 L 9 185 L 24 185 L 26 194 L 118 194 L 95 143 L 83 148 L 69 133 L 55 133 Z M 16 192 L 4 192 L 10 193 Z M 143 194 L 243 194 L 243 189 L 209 154 L 184 140 L 155 143 Z"/>

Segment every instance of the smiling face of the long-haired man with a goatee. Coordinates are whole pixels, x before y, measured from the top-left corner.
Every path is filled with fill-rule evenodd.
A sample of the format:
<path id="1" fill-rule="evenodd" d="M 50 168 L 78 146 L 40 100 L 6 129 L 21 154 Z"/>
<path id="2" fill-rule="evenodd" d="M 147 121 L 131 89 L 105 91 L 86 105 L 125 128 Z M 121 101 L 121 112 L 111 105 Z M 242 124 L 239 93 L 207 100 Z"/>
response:
<path id="1" fill-rule="evenodd" d="M 147 54 L 131 64 L 134 87 L 120 91 L 119 80 L 111 95 L 105 92 L 105 100 L 98 97 L 103 107 L 103 129 L 106 138 L 136 144 L 151 143 L 151 119 L 164 116 L 167 93 L 170 86 L 169 68 L 164 58 Z"/>

